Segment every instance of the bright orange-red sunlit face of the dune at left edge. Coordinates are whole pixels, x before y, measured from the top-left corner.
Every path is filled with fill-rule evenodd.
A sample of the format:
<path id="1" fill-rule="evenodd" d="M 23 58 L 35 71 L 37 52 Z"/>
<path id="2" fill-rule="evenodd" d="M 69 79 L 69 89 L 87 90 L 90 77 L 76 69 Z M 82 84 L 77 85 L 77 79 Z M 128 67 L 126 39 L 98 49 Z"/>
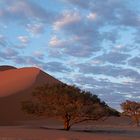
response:
<path id="1" fill-rule="evenodd" d="M 37 68 L 11 69 L 0 72 L 0 97 L 29 88 L 39 73 L 40 70 Z"/>

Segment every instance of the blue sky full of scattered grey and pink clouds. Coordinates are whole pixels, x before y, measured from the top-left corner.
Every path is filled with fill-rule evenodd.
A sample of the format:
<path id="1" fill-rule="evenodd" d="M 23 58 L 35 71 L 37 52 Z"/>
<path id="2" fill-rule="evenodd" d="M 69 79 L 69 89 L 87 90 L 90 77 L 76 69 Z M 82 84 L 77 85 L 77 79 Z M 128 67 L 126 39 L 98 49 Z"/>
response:
<path id="1" fill-rule="evenodd" d="M 140 0 L 0 0 L 0 65 L 39 67 L 119 110 L 140 101 Z"/>

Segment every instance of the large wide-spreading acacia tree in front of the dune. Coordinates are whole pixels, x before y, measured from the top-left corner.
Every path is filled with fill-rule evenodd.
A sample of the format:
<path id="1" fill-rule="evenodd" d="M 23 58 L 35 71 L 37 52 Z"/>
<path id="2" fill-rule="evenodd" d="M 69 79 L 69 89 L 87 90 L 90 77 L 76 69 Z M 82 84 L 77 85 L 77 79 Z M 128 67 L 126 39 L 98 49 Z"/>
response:
<path id="1" fill-rule="evenodd" d="M 37 87 L 33 99 L 23 102 L 22 109 L 29 114 L 61 119 L 65 130 L 76 123 L 119 114 L 96 95 L 66 84 Z"/>

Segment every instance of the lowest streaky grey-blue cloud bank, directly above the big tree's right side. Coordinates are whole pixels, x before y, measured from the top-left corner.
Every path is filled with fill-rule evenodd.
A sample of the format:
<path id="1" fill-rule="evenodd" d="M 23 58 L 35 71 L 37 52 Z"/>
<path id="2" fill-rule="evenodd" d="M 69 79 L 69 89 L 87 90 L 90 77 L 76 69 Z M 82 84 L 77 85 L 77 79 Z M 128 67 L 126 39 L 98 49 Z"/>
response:
<path id="1" fill-rule="evenodd" d="M 81 85 L 81 88 L 86 88 L 94 94 L 97 94 L 102 100 L 107 101 L 111 106 L 115 106 L 120 110 L 120 103 L 126 99 L 139 101 L 139 84 L 132 82 L 129 84 L 113 83 L 108 79 L 97 79 L 94 76 L 85 76 L 82 73 L 74 75 L 76 83 Z"/>

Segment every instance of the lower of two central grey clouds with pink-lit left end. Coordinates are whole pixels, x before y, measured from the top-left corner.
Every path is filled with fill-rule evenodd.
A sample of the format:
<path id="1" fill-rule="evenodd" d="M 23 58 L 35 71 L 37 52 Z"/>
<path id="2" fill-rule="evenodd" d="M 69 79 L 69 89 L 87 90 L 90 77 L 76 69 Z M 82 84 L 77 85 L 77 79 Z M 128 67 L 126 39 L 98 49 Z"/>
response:
<path id="1" fill-rule="evenodd" d="M 77 43 L 75 43 L 76 40 Z M 90 43 L 88 43 L 89 42 L 87 42 L 86 39 L 83 39 L 82 37 L 61 40 L 54 36 L 51 38 L 49 46 L 53 52 L 60 51 L 60 53 L 74 57 L 91 56 L 93 52 L 98 52 L 100 50 L 100 47 L 95 46 L 95 44 L 94 46 L 90 46 Z"/>

